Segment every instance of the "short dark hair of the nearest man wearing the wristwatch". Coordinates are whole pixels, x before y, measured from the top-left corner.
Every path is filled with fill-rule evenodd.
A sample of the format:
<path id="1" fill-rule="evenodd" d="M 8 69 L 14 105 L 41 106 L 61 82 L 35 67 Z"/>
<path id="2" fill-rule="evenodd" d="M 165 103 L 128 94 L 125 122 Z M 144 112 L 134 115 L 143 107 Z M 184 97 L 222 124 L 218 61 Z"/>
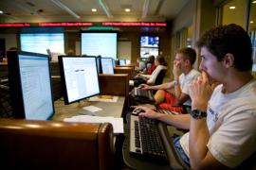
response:
<path id="1" fill-rule="evenodd" d="M 250 38 L 241 26 L 230 24 L 210 28 L 201 36 L 197 46 L 207 47 L 218 61 L 224 59 L 226 54 L 232 54 L 237 70 L 250 71 L 252 68 Z"/>

